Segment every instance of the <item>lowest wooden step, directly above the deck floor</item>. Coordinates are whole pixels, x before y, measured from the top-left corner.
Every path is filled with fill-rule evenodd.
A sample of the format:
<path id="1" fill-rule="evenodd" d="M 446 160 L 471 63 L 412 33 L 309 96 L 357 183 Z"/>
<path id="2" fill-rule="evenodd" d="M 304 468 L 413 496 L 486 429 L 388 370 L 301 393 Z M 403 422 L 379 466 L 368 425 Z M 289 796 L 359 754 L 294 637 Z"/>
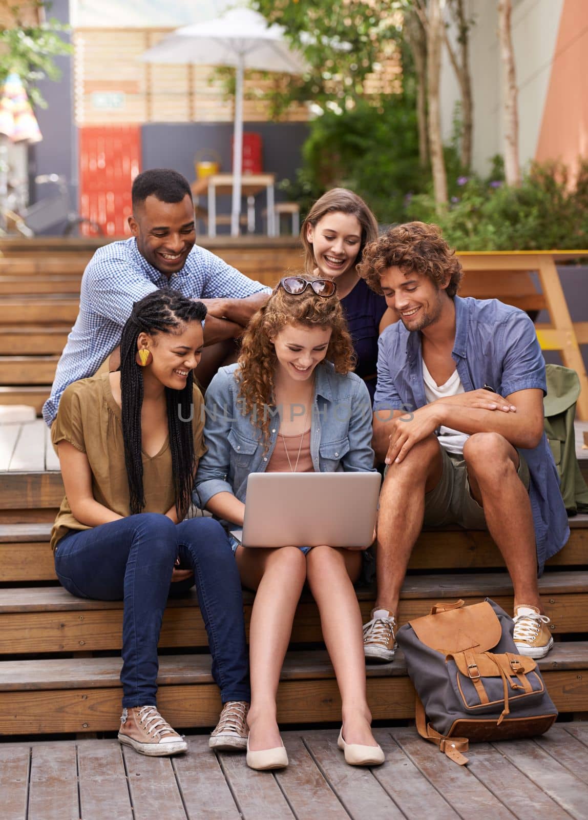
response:
<path id="1" fill-rule="evenodd" d="M 588 708 L 588 642 L 560 643 L 539 661 L 562 712 Z M 0 735 L 115 731 L 120 725 L 120 658 L 14 661 L 0 664 Z M 414 689 L 400 651 L 393 663 L 367 667 L 374 720 L 414 717 Z M 219 690 L 210 656 L 163 655 L 158 706 L 174 727 L 212 727 Z M 287 654 L 278 689 L 278 721 L 341 720 L 341 699 L 323 651 Z"/>

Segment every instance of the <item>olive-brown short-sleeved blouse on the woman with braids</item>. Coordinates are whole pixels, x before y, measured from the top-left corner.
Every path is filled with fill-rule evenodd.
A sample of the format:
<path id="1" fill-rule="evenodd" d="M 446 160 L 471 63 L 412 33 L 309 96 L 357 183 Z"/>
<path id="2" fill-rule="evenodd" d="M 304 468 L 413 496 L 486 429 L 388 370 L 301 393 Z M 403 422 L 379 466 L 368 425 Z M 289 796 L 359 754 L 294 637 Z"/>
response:
<path id="1" fill-rule="evenodd" d="M 202 440 L 204 413 L 200 390 L 194 386 L 194 454 L 206 453 Z M 57 418 L 51 430 L 53 446 L 69 441 L 81 453 L 86 453 L 92 470 L 94 499 L 113 512 L 126 517 L 129 510 L 129 482 L 124 467 L 124 442 L 121 410 L 111 391 L 108 373 L 75 381 L 66 388 L 59 403 Z M 144 512 L 167 512 L 174 504 L 174 483 L 171 472 L 170 437 L 159 453 L 142 453 Z M 73 516 L 67 497 L 61 502 L 51 532 L 51 549 L 70 530 L 89 530 Z"/>

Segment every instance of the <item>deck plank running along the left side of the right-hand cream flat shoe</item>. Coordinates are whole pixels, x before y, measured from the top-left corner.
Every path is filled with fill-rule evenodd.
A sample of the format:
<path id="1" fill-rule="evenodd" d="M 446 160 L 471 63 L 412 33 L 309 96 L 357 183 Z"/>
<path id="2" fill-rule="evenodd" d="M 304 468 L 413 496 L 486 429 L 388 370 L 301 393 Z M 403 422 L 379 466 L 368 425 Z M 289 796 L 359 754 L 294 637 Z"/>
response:
<path id="1" fill-rule="evenodd" d="M 338 730 L 304 732 L 305 746 L 354 820 L 401 820 L 403 814 L 369 768 L 348 766 L 337 749 Z"/>

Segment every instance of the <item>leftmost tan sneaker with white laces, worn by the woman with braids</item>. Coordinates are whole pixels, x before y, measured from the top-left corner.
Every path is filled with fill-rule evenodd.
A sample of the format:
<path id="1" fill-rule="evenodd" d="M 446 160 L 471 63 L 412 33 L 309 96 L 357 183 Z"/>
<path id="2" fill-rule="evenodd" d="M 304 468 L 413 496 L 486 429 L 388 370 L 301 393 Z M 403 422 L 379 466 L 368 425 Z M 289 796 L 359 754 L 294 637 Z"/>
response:
<path id="1" fill-rule="evenodd" d="M 174 731 L 155 706 L 133 706 L 123 709 L 120 717 L 119 740 L 132 746 L 139 754 L 153 758 L 185 752 L 188 744 Z"/>

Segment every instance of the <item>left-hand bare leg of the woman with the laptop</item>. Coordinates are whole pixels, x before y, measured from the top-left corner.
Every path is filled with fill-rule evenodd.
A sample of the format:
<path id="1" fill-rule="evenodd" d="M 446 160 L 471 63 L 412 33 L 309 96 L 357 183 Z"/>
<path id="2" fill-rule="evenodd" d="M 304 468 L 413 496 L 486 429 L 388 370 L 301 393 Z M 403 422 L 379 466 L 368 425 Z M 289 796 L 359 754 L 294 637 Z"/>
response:
<path id="1" fill-rule="evenodd" d="M 243 585 L 257 590 L 249 626 L 249 748 L 275 749 L 282 742 L 276 708 L 278 682 L 306 578 L 305 555 L 297 547 L 238 547 L 236 558 Z"/>

